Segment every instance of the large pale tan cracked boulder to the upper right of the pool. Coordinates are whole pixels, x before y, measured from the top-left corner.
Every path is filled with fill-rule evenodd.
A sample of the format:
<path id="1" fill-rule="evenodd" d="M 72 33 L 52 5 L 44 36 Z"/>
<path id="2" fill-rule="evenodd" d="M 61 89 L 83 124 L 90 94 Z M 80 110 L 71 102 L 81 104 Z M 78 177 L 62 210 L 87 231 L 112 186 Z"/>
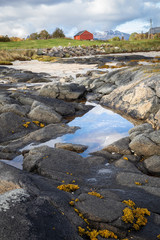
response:
<path id="1" fill-rule="evenodd" d="M 148 68 L 152 74 L 146 76 Z M 119 70 L 113 76 L 117 77 L 118 74 L 119 78 L 115 80 L 118 88 L 102 97 L 102 105 L 138 120 L 146 120 L 151 114 L 155 114 L 159 110 L 157 79 L 160 74 L 154 72 L 153 66 Z"/>

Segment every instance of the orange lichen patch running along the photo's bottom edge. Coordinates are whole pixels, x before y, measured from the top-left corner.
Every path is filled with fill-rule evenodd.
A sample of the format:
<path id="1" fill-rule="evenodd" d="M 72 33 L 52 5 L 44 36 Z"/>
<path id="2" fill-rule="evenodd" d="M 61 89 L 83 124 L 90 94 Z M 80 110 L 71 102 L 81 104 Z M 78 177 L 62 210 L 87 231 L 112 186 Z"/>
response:
<path id="1" fill-rule="evenodd" d="M 89 231 L 86 231 L 84 228 L 78 227 L 78 231 L 80 236 L 87 235 L 91 240 L 97 240 L 97 236 L 100 235 L 103 238 L 114 238 L 117 239 L 117 235 L 115 235 L 113 232 L 109 230 L 99 230 L 96 229 L 90 229 Z"/>

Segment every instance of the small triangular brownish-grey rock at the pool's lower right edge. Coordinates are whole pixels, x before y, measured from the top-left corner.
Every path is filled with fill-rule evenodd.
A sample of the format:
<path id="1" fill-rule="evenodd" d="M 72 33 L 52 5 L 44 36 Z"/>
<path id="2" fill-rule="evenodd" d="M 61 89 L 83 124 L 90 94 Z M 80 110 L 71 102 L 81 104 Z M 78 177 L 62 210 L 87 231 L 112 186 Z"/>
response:
<path id="1" fill-rule="evenodd" d="M 129 137 L 122 138 L 109 146 L 105 147 L 103 150 L 108 152 L 115 152 L 119 154 L 131 154 L 131 150 L 129 148 L 130 139 Z"/>

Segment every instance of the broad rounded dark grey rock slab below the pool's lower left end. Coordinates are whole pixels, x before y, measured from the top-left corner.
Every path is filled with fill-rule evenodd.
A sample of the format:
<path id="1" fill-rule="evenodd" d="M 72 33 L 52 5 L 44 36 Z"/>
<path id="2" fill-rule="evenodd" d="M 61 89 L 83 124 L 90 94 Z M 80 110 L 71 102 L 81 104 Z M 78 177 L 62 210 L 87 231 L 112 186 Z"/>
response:
<path id="1" fill-rule="evenodd" d="M 81 179 L 90 172 L 92 162 L 75 152 L 42 146 L 24 154 L 24 170 L 36 172 L 52 179 Z"/>

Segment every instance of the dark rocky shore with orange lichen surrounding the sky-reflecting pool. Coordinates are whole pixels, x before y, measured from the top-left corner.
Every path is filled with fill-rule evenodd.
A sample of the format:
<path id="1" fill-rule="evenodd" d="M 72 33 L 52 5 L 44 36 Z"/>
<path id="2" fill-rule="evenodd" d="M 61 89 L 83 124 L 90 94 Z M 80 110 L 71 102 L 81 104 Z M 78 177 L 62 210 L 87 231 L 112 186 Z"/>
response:
<path id="1" fill-rule="evenodd" d="M 61 62 L 97 70 L 63 81 L 0 67 L 0 159 L 23 156 L 23 170 L 0 162 L 0 239 L 160 239 L 160 58 L 84 59 Z M 134 123 L 129 136 L 86 158 L 83 142 L 22 150 L 75 132 L 86 99 Z"/>

